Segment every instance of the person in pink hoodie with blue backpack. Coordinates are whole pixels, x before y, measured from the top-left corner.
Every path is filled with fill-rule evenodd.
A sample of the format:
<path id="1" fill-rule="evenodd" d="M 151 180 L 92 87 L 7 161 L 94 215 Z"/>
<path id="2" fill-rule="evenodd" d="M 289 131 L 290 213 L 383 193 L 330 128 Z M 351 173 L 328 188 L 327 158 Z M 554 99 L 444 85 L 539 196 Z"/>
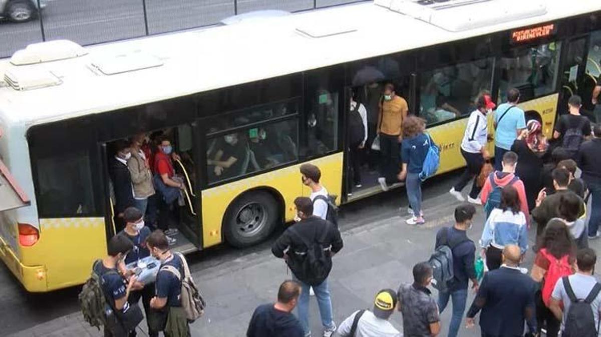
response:
<path id="1" fill-rule="evenodd" d="M 529 223 L 528 201 L 526 200 L 526 190 L 524 183 L 520 180 L 516 172 L 517 154 L 513 151 L 507 151 L 503 154 L 501 162 L 502 171 L 492 172 L 484 182 L 480 199 L 484 205 L 484 213 L 488 219 L 490 212 L 501 205 L 501 192 L 505 186 L 513 186 L 517 190 L 517 195 L 520 199 L 520 210 L 526 216 L 526 221 Z"/>

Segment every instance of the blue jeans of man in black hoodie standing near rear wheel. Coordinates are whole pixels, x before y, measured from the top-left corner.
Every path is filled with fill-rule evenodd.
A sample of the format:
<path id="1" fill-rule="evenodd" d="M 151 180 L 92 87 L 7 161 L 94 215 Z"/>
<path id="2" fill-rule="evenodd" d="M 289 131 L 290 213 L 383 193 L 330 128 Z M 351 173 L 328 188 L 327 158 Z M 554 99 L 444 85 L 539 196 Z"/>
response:
<path id="1" fill-rule="evenodd" d="M 299 297 L 296 308 L 299 321 L 301 321 L 302 329 L 305 331 L 305 335 L 308 335 L 311 333 L 311 326 L 309 325 L 309 288 L 311 286 L 299 281 L 296 276 L 293 276 L 293 279 L 294 281 L 299 282 L 302 287 L 301 296 Z M 325 279 L 325 281 L 323 281 L 320 285 L 314 285 L 313 292 L 315 293 L 315 297 L 317 299 L 319 314 L 322 317 L 322 325 L 324 329 L 333 329 L 334 320 L 332 318 L 332 299 L 330 297 L 328 279 Z"/>

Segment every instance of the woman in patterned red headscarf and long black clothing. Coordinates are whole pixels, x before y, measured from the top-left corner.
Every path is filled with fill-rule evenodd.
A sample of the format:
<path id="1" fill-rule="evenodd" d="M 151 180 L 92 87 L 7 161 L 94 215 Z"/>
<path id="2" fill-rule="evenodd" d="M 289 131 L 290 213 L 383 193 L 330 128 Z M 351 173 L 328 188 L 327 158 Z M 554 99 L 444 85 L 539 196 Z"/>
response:
<path id="1" fill-rule="evenodd" d="M 516 175 L 524 183 L 530 211 L 535 207 L 538 192 L 543 186 L 543 155 L 547 148 L 547 139 L 537 120 L 528 121 L 526 129 L 520 133 L 511 146 L 511 151 L 517 153 Z"/>

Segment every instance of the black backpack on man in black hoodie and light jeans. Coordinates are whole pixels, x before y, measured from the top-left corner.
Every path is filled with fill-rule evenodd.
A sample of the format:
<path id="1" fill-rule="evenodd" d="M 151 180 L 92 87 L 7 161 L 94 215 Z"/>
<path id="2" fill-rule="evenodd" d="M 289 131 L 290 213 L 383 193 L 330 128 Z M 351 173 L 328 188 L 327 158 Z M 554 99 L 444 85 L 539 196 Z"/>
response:
<path id="1" fill-rule="evenodd" d="M 331 247 L 326 246 L 323 241 L 326 240 L 331 223 L 323 221 L 323 224 L 316 226 L 316 234 L 313 240 L 309 241 L 296 231 L 294 226 L 290 227 L 290 233 L 299 238 L 307 246 L 307 252 L 297 252 L 296 263 L 291 266 L 294 275 L 308 285 L 317 286 L 323 283 L 332 270 L 332 255 L 329 251 Z M 319 237 L 317 233 L 322 229 Z"/>

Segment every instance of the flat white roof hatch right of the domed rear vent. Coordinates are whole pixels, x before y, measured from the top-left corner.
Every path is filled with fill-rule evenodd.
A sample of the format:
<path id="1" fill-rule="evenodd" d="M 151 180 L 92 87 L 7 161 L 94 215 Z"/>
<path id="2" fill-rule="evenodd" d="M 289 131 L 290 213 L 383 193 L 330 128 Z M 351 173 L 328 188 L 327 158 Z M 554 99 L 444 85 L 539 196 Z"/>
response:
<path id="1" fill-rule="evenodd" d="M 105 75 L 127 73 L 129 71 L 160 67 L 163 61 L 153 55 L 135 50 L 117 55 L 96 57 L 91 66 Z"/>

